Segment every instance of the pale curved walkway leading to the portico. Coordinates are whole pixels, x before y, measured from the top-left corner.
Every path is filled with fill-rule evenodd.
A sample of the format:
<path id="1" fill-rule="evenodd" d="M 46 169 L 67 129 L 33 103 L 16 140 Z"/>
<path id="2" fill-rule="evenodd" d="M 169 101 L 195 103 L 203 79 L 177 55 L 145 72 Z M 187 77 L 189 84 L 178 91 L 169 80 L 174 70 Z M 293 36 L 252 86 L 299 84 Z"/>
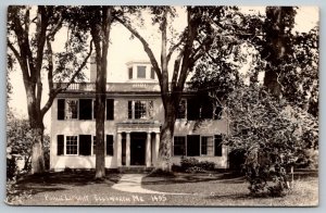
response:
<path id="1" fill-rule="evenodd" d="M 126 192 L 136 193 L 161 193 L 161 195 L 186 195 L 186 193 L 168 193 L 162 191 L 148 190 L 141 187 L 141 179 L 143 174 L 124 174 L 118 183 L 112 186 L 113 189 Z"/>

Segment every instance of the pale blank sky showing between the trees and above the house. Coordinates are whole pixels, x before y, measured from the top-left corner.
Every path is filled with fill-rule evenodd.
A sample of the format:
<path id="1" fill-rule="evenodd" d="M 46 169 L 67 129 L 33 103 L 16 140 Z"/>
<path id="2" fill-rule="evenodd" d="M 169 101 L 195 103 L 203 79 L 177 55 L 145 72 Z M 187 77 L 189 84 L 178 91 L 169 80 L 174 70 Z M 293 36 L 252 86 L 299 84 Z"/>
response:
<path id="1" fill-rule="evenodd" d="M 242 11 L 248 13 L 264 13 L 263 7 L 241 7 Z M 174 27 L 176 29 L 183 29 L 186 25 L 185 13 L 181 12 L 181 9 L 178 9 L 179 16 L 174 21 Z M 140 33 L 150 38 L 150 46 L 153 49 L 153 52 L 160 61 L 160 36 L 156 33 L 156 26 L 152 27 L 149 25 L 149 18 L 146 16 L 146 28 L 141 28 Z M 298 32 L 309 32 L 312 27 L 316 25 L 318 21 L 318 8 L 316 7 L 302 7 L 298 10 L 296 16 L 296 26 L 294 30 Z M 63 35 L 63 34 L 62 34 Z M 59 34 L 58 42 L 60 42 L 61 35 Z M 63 37 L 62 37 L 63 38 Z M 114 24 L 111 32 L 111 45 L 109 48 L 109 58 L 108 58 L 108 82 L 126 82 L 127 80 L 127 66 L 126 63 L 131 60 L 148 60 L 147 54 L 143 51 L 142 45 L 138 39 L 130 39 L 130 33 L 120 24 Z M 173 60 L 172 60 L 173 61 Z M 172 66 L 172 63 L 171 63 Z M 246 70 L 246 67 L 243 67 Z M 88 72 L 86 72 L 88 73 Z M 20 117 L 27 117 L 27 106 L 26 106 L 26 95 L 23 86 L 23 77 L 21 71 L 12 72 L 11 83 L 13 86 L 13 93 L 11 95 L 11 100 L 9 105 L 14 109 L 14 112 Z M 42 101 L 47 100 L 47 89 L 43 92 Z M 46 114 L 45 124 L 47 126 L 46 131 L 49 130 L 50 126 L 50 111 Z"/>

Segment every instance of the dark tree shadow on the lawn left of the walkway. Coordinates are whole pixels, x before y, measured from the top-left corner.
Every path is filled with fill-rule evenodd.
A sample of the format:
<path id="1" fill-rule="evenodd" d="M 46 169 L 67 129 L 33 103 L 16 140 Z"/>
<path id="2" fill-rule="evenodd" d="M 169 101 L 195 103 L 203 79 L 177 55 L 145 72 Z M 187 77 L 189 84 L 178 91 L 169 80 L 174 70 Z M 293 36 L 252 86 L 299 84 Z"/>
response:
<path id="1" fill-rule="evenodd" d="M 106 184 L 111 187 L 117 183 L 121 175 L 106 172 L 103 179 L 95 179 L 95 172 L 91 171 L 70 171 L 70 172 L 49 172 L 43 174 L 27 175 L 18 179 L 20 190 L 32 190 L 32 193 L 67 190 L 68 187 Z"/>

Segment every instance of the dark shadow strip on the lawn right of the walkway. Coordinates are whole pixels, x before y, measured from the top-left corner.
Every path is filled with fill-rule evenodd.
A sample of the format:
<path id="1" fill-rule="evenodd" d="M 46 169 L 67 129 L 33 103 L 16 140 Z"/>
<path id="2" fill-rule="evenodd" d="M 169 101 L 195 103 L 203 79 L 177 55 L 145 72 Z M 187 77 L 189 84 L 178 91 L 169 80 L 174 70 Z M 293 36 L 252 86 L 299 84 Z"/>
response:
<path id="1" fill-rule="evenodd" d="M 240 184 L 246 181 L 244 177 L 238 173 L 198 173 L 187 174 L 178 173 L 175 177 L 145 177 L 142 185 L 168 185 L 168 184 L 186 184 L 186 183 L 203 183 L 203 181 L 218 181 L 225 184 Z"/>

